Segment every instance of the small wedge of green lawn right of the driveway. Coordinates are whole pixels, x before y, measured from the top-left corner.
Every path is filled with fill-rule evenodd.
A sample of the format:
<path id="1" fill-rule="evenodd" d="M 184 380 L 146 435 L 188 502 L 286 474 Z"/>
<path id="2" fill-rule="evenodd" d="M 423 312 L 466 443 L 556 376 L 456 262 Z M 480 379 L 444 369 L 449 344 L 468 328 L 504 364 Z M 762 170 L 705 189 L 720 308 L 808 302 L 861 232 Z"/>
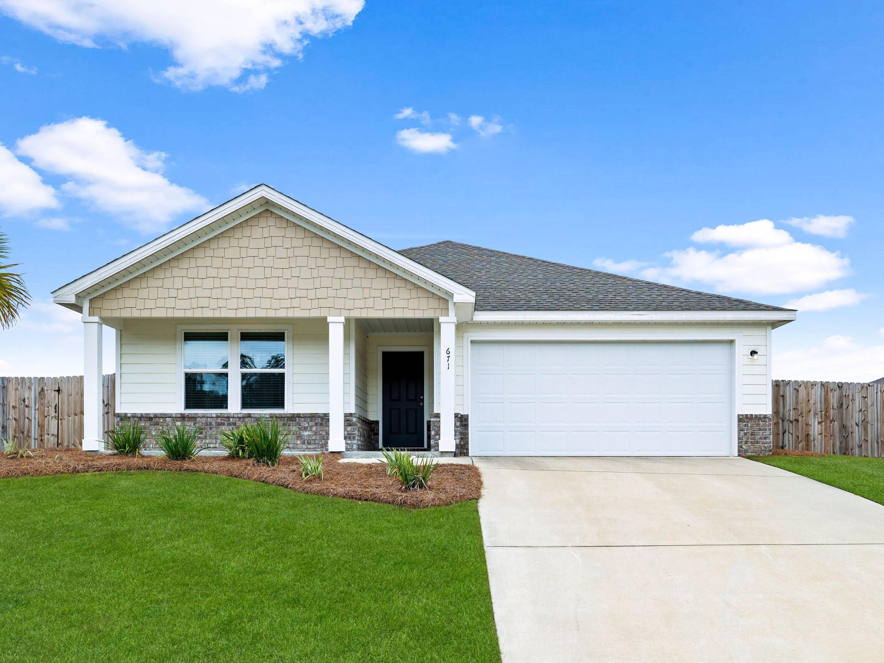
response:
<path id="1" fill-rule="evenodd" d="M 788 469 L 823 484 L 884 504 L 884 459 L 857 456 L 753 456 L 753 461 Z"/>

